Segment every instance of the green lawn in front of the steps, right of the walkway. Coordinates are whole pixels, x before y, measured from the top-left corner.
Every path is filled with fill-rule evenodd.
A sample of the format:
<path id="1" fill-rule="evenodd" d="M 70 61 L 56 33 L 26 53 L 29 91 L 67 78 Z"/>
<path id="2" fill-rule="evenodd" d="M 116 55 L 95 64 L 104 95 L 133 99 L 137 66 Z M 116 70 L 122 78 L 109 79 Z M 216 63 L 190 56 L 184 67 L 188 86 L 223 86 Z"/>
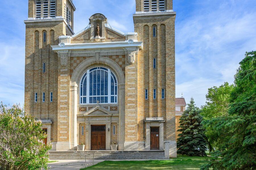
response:
<path id="1" fill-rule="evenodd" d="M 168 169 L 168 170 L 186 170 L 199 169 L 199 167 L 210 160 L 210 157 L 191 157 L 178 156 L 171 160 L 151 160 L 151 161 L 104 161 L 94 166 L 81 170 L 90 169 Z"/>

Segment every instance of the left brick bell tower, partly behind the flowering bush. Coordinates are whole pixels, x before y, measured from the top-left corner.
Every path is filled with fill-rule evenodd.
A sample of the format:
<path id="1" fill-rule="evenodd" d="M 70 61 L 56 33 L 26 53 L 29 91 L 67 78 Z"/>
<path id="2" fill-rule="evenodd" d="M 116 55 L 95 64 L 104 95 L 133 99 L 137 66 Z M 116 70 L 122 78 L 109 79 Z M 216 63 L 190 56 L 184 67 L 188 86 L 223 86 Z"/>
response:
<path id="1" fill-rule="evenodd" d="M 59 36 L 74 34 L 75 9 L 72 0 L 28 0 L 28 18 L 24 20 L 25 112 L 42 120 L 47 128 L 47 142 L 53 143 L 53 149 L 56 149 L 57 142 L 69 139 L 53 133 L 57 131 L 58 123 L 60 74 L 58 55 L 51 46 L 59 44 Z"/>

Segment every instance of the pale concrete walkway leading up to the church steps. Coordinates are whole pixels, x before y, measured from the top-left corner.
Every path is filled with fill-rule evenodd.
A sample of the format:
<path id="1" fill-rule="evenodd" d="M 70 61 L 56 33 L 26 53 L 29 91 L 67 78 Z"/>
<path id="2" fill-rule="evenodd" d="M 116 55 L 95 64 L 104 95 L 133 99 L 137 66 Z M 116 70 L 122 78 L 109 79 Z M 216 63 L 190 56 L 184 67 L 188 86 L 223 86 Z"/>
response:
<path id="1" fill-rule="evenodd" d="M 49 169 L 52 170 L 80 170 L 85 167 L 84 160 L 56 160 L 58 162 L 48 163 Z M 94 160 L 94 165 L 104 160 Z M 86 160 L 86 164 L 92 163 L 92 160 Z M 92 165 L 92 164 L 91 164 Z"/>

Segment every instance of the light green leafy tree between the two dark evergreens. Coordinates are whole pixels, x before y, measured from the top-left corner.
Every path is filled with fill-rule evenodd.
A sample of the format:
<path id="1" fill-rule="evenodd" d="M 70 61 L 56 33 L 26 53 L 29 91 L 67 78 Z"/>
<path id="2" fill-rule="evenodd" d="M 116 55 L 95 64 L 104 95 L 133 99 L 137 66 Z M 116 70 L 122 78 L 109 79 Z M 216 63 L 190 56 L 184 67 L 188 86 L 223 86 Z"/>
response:
<path id="1" fill-rule="evenodd" d="M 206 104 L 201 107 L 200 114 L 203 116 L 204 120 L 210 120 L 219 116 L 228 115 L 228 108 L 230 105 L 230 95 L 234 85 L 229 85 L 228 82 L 225 82 L 219 87 L 212 87 L 208 89 L 206 95 Z M 218 136 L 218 132 L 212 129 L 212 126 L 207 126 L 206 128 L 206 138 L 209 146 L 210 152 L 212 150 L 223 150 L 226 148 L 225 142 L 226 135 Z"/>

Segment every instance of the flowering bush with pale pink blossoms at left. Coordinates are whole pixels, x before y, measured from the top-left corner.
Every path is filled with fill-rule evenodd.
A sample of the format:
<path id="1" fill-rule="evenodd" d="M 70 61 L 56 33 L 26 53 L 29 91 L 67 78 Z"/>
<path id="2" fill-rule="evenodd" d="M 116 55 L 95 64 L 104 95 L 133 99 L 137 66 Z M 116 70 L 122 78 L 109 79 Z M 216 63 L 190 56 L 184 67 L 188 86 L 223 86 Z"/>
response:
<path id="1" fill-rule="evenodd" d="M 42 123 L 23 112 L 18 105 L 0 105 L 0 169 L 47 169 L 46 134 Z"/>

